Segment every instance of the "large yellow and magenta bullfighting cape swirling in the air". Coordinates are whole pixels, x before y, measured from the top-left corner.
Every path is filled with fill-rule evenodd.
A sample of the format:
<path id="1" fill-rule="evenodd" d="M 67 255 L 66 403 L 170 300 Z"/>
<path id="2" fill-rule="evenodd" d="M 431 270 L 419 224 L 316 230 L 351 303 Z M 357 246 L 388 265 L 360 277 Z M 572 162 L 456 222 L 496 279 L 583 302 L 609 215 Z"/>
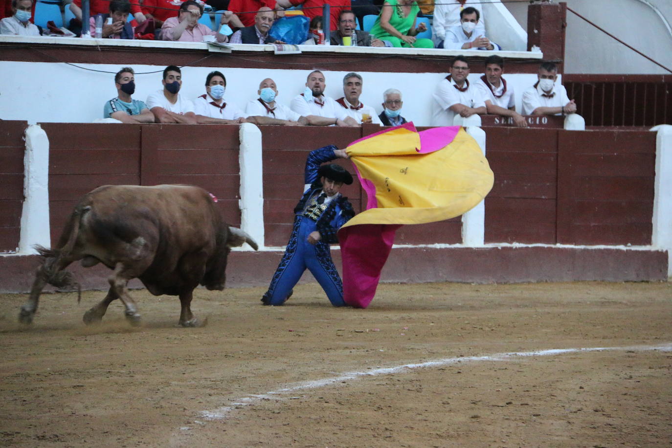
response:
<path id="1" fill-rule="evenodd" d="M 366 308 L 376 294 L 394 232 L 460 216 L 493 187 L 493 171 L 464 128 L 417 132 L 413 123 L 372 134 L 345 148 L 368 202 L 341 227 L 343 299 Z"/>

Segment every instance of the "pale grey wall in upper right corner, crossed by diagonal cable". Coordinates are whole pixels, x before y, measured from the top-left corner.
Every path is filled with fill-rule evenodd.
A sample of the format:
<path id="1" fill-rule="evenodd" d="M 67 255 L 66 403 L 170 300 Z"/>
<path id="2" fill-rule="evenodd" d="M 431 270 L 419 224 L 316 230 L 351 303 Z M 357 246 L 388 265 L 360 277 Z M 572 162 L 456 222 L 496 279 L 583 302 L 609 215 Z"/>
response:
<path id="1" fill-rule="evenodd" d="M 672 34 L 668 28 L 672 23 L 672 1 L 564 1 L 597 26 L 672 69 Z M 528 5 L 527 1 L 506 3 L 525 29 L 528 26 Z M 565 73 L 669 74 L 570 11 L 567 11 L 565 42 Z"/>

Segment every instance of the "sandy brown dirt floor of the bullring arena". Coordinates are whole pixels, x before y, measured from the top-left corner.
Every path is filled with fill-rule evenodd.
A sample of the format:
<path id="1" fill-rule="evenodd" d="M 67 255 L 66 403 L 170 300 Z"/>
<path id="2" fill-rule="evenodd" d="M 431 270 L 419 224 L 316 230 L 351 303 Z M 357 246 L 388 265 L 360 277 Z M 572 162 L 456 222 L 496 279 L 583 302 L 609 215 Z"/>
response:
<path id="1" fill-rule="evenodd" d="M 671 446 L 671 283 L 384 284 L 367 310 L 262 293 L 198 289 L 204 328 L 144 290 L 138 328 L 119 303 L 85 326 L 102 292 L 44 294 L 27 330 L 26 296 L 0 295 L 0 445 Z"/>

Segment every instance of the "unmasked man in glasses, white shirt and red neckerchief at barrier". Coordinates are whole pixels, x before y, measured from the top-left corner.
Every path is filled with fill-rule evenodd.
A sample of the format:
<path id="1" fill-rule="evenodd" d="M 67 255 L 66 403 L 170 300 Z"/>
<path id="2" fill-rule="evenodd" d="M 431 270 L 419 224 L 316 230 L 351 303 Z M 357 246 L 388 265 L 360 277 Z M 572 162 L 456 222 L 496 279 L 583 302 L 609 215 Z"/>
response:
<path id="1" fill-rule="evenodd" d="M 464 56 L 456 56 L 450 67 L 450 75 L 436 86 L 432 95 L 431 126 L 453 126 L 456 114 L 470 117 L 486 113 L 480 90 L 469 85 L 468 76 L 469 62 Z"/>

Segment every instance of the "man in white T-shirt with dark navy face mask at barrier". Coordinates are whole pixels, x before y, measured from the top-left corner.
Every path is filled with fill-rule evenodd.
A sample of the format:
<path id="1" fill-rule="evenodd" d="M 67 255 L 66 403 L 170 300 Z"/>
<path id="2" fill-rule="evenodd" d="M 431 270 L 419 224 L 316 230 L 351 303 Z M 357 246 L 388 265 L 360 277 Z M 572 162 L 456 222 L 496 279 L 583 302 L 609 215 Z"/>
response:
<path id="1" fill-rule="evenodd" d="M 191 1 L 191 0 L 187 0 Z M 186 3 L 186 2 L 185 2 Z M 163 89 L 147 97 L 147 107 L 157 123 L 196 123 L 194 103 L 179 95 L 182 87 L 182 72 L 169 65 L 163 70 Z"/>

